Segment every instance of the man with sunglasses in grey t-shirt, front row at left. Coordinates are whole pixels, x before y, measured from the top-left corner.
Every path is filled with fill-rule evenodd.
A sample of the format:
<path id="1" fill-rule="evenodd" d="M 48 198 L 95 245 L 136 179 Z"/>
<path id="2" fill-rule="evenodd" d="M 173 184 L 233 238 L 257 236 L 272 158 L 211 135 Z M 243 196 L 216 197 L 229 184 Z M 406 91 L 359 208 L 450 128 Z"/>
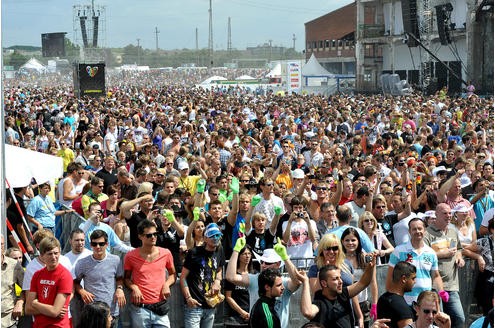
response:
<path id="1" fill-rule="evenodd" d="M 105 231 L 93 231 L 90 240 L 93 254 L 77 262 L 74 291 L 81 296 L 84 304 L 95 301 L 108 304 L 114 319 L 112 327 L 117 327 L 119 308 L 126 303 L 122 264 L 117 255 L 107 253 L 108 235 Z M 77 322 L 73 324 L 78 325 Z"/>

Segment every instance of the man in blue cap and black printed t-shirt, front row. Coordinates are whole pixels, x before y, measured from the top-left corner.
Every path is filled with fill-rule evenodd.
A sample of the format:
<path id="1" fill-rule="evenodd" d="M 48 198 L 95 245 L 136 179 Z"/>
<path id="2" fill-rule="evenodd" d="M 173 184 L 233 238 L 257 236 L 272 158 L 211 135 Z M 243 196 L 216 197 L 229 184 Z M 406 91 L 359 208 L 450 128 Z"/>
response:
<path id="1" fill-rule="evenodd" d="M 191 249 L 184 261 L 180 287 L 186 302 L 184 321 L 188 328 L 213 327 L 215 308 L 206 302 L 205 296 L 214 296 L 221 289 L 225 265 L 220 246 L 222 236 L 216 223 L 208 224 L 204 233 L 204 245 Z"/>

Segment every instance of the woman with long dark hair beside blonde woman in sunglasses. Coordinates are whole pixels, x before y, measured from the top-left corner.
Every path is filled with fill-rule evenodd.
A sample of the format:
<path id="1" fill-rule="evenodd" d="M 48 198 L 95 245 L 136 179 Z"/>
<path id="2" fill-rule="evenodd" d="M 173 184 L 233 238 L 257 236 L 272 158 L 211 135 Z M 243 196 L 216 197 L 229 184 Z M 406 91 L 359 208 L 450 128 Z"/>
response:
<path id="1" fill-rule="evenodd" d="M 369 212 L 368 212 L 369 213 Z M 386 239 L 386 238 L 385 238 Z M 361 278 L 366 267 L 366 254 L 361 246 L 359 234 L 354 228 L 347 228 L 342 233 L 340 241 L 343 246 L 346 260 L 352 265 L 354 269 L 354 281 Z M 378 302 L 378 285 L 376 282 L 376 273 L 373 274 L 370 284 L 371 289 L 371 304 L 368 301 L 368 288 L 364 289 L 357 295 L 359 302 L 359 309 L 354 311 L 354 319 L 359 322 L 360 327 L 369 327 L 370 316 L 376 319 L 376 303 Z"/>

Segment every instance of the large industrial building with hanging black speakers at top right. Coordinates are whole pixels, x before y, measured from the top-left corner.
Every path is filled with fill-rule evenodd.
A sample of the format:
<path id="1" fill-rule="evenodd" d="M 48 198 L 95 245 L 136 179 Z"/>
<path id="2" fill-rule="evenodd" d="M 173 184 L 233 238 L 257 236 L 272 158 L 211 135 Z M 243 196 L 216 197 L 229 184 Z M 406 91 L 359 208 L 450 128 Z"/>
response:
<path id="1" fill-rule="evenodd" d="M 305 24 L 306 59 L 356 75 L 356 90 L 381 91 L 398 74 L 418 90 L 472 81 L 493 92 L 493 0 L 357 0 Z"/>

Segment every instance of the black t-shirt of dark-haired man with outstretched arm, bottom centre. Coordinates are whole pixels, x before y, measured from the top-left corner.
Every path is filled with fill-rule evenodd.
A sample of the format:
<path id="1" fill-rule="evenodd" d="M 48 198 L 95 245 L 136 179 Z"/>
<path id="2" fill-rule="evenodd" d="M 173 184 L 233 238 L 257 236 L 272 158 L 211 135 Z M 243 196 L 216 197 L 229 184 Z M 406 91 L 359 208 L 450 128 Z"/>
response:
<path id="1" fill-rule="evenodd" d="M 342 288 L 342 293 L 335 300 L 329 300 L 323 296 L 321 290 L 315 293 L 313 304 L 320 309 L 311 322 L 319 322 L 326 328 L 353 328 L 354 316 L 347 287 Z"/>

